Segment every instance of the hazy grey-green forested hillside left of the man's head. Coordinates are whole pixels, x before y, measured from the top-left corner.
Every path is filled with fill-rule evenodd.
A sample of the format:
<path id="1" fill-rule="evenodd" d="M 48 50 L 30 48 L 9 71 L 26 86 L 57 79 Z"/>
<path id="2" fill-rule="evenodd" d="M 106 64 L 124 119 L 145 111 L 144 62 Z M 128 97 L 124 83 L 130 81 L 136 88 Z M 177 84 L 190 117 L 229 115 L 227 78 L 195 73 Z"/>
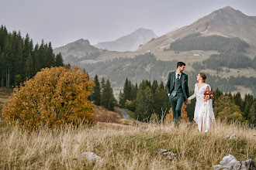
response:
<path id="1" fill-rule="evenodd" d="M 106 62 L 89 63 L 80 65 L 86 71 L 95 76 L 101 75 L 109 79 L 115 86 L 123 87 L 125 77 L 132 83 L 142 80 L 157 80 L 161 82 L 169 71 L 176 69 L 177 60 L 162 61 L 156 59 L 153 53 L 145 53 L 133 58 L 119 58 L 107 60 Z M 112 76 L 115 75 L 115 76 Z"/>

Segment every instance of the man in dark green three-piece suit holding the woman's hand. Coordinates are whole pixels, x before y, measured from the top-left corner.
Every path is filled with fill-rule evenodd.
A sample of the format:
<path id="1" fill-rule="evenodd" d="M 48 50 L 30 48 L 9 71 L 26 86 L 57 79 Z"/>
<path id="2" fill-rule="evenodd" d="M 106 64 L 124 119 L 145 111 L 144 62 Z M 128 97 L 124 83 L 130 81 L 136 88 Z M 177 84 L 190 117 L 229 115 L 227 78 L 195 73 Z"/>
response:
<path id="1" fill-rule="evenodd" d="M 179 119 L 182 113 L 182 104 L 190 96 L 188 87 L 188 75 L 185 71 L 185 63 L 178 62 L 177 70 L 170 72 L 166 84 L 168 97 L 171 101 L 175 130 L 178 131 Z"/>

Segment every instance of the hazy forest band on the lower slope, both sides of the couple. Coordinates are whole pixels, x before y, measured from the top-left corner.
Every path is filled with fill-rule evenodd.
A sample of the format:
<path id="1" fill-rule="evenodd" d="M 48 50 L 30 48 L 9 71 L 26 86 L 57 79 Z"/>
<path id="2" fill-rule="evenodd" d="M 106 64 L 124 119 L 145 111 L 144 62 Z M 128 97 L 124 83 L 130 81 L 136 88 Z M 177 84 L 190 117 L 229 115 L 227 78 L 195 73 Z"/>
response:
<path id="1" fill-rule="evenodd" d="M 134 58 L 120 58 L 112 59 L 105 62 L 85 64 L 82 65 L 86 72 L 90 76 L 96 74 L 101 77 L 104 76 L 112 83 L 112 87 L 122 87 L 125 83 L 126 77 L 131 83 L 141 83 L 142 80 L 150 80 L 153 82 L 166 82 L 168 73 L 176 70 L 177 60 L 174 61 L 162 61 L 157 60 L 152 53 L 146 53 L 144 55 L 136 56 Z M 196 81 L 196 76 L 200 70 L 205 69 L 201 63 L 195 63 L 192 65 L 195 71 L 187 73 L 189 75 L 189 88 L 192 90 Z M 207 83 L 209 83 L 213 89 L 218 88 L 224 92 L 230 92 L 237 90 L 236 85 L 249 87 L 253 91 L 254 97 L 256 97 L 256 78 L 245 76 L 231 76 L 229 78 L 222 78 L 217 75 L 207 75 Z"/>

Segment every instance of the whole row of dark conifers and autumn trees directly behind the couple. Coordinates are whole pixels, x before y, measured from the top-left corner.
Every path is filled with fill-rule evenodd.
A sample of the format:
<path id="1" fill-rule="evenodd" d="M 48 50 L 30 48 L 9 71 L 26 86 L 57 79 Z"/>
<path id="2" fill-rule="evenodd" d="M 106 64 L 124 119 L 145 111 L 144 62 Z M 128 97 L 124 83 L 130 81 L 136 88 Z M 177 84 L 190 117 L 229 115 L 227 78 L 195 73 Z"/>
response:
<path id="1" fill-rule="evenodd" d="M 157 83 L 154 80 L 143 80 L 139 85 L 131 83 L 126 78 L 123 90 L 119 92 L 119 104 L 112 93 L 110 82 L 104 83 L 104 77 L 101 83 L 99 78 L 95 76 L 95 87 L 92 91 L 92 102 L 95 105 L 102 105 L 109 110 L 113 110 L 115 106 L 125 108 L 134 112 L 134 117 L 138 121 L 145 121 L 152 114 L 161 117 L 168 114 L 171 104 L 165 90 L 164 83 Z M 194 93 L 191 90 L 191 94 Z M 213 109 L 216 118 L 227 119 L 227 121 L 241 121 L 256 125 L 256 99 L 252 94 L 246 94 L 244 98 L 238 93 L 223 93 L 216 88 L 213 90 Z M 192 104 L 185 107 L 185 111 L 189 120 L 193 120 L 195 110 L 195 100 Z"/>

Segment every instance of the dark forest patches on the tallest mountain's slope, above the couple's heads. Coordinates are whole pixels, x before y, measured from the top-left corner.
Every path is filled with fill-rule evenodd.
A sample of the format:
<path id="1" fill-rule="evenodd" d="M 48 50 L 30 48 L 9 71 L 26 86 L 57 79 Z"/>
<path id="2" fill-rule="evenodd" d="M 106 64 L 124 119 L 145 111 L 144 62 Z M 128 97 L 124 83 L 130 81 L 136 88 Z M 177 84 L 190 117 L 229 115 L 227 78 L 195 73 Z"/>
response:
<path id="1" fill-rule="evenodd" d="M 191 51 L 214 50 L 220 54 L 212 54 L 209 59 L 202 63 L 211 70 L 221 70 L 222 66 L 228 68 L 248 68 L 252 67 L 256 70 L 256 57 L 250 59 L 245 55 L 249 44 L 239 38 L 227 38 L 223 36 L 201 36 L 196 32 L 185 36 L 183 39 L 177 39 L 172 42 L 168 50 L 174 51 Z"/>

